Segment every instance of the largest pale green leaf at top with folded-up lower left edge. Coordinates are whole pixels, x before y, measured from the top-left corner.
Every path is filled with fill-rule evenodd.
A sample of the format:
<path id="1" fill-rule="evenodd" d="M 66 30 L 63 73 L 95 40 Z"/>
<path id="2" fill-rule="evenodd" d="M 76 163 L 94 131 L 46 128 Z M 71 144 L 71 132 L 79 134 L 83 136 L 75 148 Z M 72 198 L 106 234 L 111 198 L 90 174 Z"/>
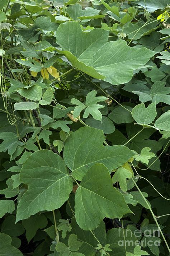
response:
<path id="1" fill-rule="evenodd" d="M 61 24 L 56 40 L 62 48 L 60 53 L 66 55 L 74 67 L 114 85 L 129 82 L 133 70 L 155 54 L 146 48 L 131 48 L 123 40 L 107 42 L 107 31 L 83 32 L 78 22 Z"/>

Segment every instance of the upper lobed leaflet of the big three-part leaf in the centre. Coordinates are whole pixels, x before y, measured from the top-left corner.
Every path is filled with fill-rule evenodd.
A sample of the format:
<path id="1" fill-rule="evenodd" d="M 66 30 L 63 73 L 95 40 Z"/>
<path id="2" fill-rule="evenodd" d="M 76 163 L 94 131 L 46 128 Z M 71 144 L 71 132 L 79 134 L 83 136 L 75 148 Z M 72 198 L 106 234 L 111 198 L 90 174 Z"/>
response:
<path id="1" fill-rule="evenodd" d="M 76 179 L 81 180 L 95 163 L 103 163 L 112 172 L 134 155 L 125 146 L 104 146 L 103 142 L 103 131 L 92 127 L 81 127 L 66 140 L 64 160 Z"/>

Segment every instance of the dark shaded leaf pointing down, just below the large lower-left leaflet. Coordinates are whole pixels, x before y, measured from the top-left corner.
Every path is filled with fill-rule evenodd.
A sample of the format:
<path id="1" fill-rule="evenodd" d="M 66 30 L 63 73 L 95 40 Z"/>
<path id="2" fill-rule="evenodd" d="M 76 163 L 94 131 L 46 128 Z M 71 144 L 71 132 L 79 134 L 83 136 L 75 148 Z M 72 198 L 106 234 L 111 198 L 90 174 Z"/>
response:
<path id="1" fill-rule="evenodd" d="M 45 228 L 48 224 L 47 218 L 44 214 L 36 214 L 30 216 L 29 219 L 23 220 L 22 225 L 26 230 L 26 238 L 28 243 L 35 236 L 38 229 Z"/>

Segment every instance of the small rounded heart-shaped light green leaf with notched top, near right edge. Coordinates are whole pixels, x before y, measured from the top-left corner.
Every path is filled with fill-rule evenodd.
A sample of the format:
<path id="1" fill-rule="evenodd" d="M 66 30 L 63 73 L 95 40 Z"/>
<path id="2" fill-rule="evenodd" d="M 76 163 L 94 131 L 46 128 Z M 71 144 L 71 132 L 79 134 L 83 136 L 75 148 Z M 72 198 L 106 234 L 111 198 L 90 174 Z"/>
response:
<path id="1" fill-rule="evenodd" d="M 154 121 L 156 114 L 155 103 L 151 103 L 147 108 L 144 103 L 141 103 L 136 105 L 132 110 L 132 117 L 134 120 L 143 125 L 148 125 Z"/>

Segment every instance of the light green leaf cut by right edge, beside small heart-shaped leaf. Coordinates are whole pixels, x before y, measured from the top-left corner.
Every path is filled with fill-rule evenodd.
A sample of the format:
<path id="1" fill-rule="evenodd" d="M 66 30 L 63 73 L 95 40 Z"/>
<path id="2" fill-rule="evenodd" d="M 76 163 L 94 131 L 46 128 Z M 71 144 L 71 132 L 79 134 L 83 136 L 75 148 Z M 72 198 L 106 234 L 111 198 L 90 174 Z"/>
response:
<path id="1" fill-rule="evenodd" d="M 170 110 L 156 120 L 155 127 L 163 131 L 170 131 Z"/>

